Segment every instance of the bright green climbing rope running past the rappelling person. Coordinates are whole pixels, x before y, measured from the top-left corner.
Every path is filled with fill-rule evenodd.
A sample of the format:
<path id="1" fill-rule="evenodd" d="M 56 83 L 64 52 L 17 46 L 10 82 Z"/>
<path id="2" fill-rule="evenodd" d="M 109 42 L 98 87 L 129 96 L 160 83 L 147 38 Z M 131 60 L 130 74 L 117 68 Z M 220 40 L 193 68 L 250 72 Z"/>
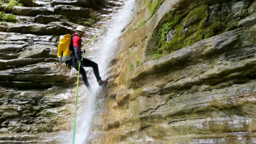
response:
<path id="1" fill-rule="evenodd" d="M 122 8 L 123 9 L 123 8 Z M 120 10 L 120 11 L 122 11 L 122 9 Z M 119 12 L 120 12 L 119 11 Z M 119 13 L 118 12 L 118 13 Z M 92 42 L 92 40 L 112 21 L 112 19 L 118 14 L 118 13 L 116 13 L 111 19 L 110 19 L 110 21 L 103 27 L 103 28 L 101 28 L 100 29 L 100 31 L 98 32 L 98 33 L 96 33 L 93 37 L 92 37 L 92 39 L 89 41 L 89 42 L 87 42 L 86 44 L 85 44 L 85 46 L 82 48 L 82 49 L 84 49 L 89 43 L 91 43 Z M 83 54 L 84 54 L 84 52 L 82 53 L 82 58 L 81 58 L 81 61 L 83 60 Z M 78 61 L 79 62 L 79 61 Z M 74 129 L 73 129 L 73 140 L 72 140 L 72 144 L 75 144 L 75 130 L 76 130 L 76 108 L 77 108 L 77 95 L 78 95 L 78 82 L 79 82 L 79 71 L 80 71 L 80 65 L 81 65 L 81 63 L 79 62 L 79 66 L 78 66 L 78 76 L 77 76 L 77 86 L 76 86 L 76 106 L 75 106 L 75 120 L 74 120 Z"/>

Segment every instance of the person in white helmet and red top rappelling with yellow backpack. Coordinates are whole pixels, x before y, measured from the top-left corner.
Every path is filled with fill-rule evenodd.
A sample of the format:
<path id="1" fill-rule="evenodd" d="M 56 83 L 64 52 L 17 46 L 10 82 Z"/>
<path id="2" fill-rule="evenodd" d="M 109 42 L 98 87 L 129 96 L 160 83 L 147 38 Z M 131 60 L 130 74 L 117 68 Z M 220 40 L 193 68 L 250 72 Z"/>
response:
<path id="1" fill-rule="evenodd" d="M 61 36 L 59 46 L 58 46 L 58 57 L 60 62 L 62 60 L 63 61 L 66 60 L 65 62 L 66 66 L 74 67 L 82 75 L 84 84 L 86 85 L 87 89 L 90 91 L 91 85 L 88 82 L 86 72 L 83 67 L 92 67 L 99 86 L 102 86 L 106 82 L 108 82 L 108 78 L 102 80 L 99 74 L 98 64 L 82 56 L 82 54 L 85 52 L 85 49 L 81 49 L 82 47 L 81 37 L 83 37 L 84 34 L 85 34 L 85 27 L 78 26 L 76 28 L 76 32 L 73 33 L 71 36 L 69 34 Z M 70 43 L 67 43 L 69 41 Z M 61 50 L 61 49 L 64 49 L 64 50 Z M 79 64 L 80 64 L 80 71 L 79 71 Z"/>

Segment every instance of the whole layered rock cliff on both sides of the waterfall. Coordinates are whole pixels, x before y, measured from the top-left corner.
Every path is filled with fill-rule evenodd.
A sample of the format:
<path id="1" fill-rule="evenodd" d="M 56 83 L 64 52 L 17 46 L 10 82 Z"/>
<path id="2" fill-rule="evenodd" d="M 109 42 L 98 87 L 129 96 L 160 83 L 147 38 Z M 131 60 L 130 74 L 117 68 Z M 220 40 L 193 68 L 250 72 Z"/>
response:
<path id="1" fill-rule="evenodd" d="M 76 71 L 54 63 L 58 36 L 83 24 L 91 38 L 103 26 L 92 17 L 122 2 L 21 2 L 0 5 L 18 19 L 0 25 L 0 143 L 61 143 Z M 255 143 L 256 1 L 136 3 L 87 143 Z"/>

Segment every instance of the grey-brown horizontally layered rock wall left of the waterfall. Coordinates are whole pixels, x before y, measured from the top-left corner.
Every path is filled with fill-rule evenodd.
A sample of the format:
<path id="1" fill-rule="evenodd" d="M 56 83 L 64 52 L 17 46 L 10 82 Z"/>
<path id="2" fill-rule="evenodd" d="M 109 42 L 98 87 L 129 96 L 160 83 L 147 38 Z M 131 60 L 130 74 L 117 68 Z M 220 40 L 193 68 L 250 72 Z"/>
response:
<path id="1" fill-rule="evenodd" d="M 84 43 L 104 26 L 97 22 L 111 18 L 122 3 L 19 2 L 24 7 L 0 3 L 0 11 L 16 15 L 16 23 L 0 22 L 0 143 L 61 143 L 58 136 L 72 128 L 77 72 L 56 63 L 59 36 L 84 25 Z"/>

